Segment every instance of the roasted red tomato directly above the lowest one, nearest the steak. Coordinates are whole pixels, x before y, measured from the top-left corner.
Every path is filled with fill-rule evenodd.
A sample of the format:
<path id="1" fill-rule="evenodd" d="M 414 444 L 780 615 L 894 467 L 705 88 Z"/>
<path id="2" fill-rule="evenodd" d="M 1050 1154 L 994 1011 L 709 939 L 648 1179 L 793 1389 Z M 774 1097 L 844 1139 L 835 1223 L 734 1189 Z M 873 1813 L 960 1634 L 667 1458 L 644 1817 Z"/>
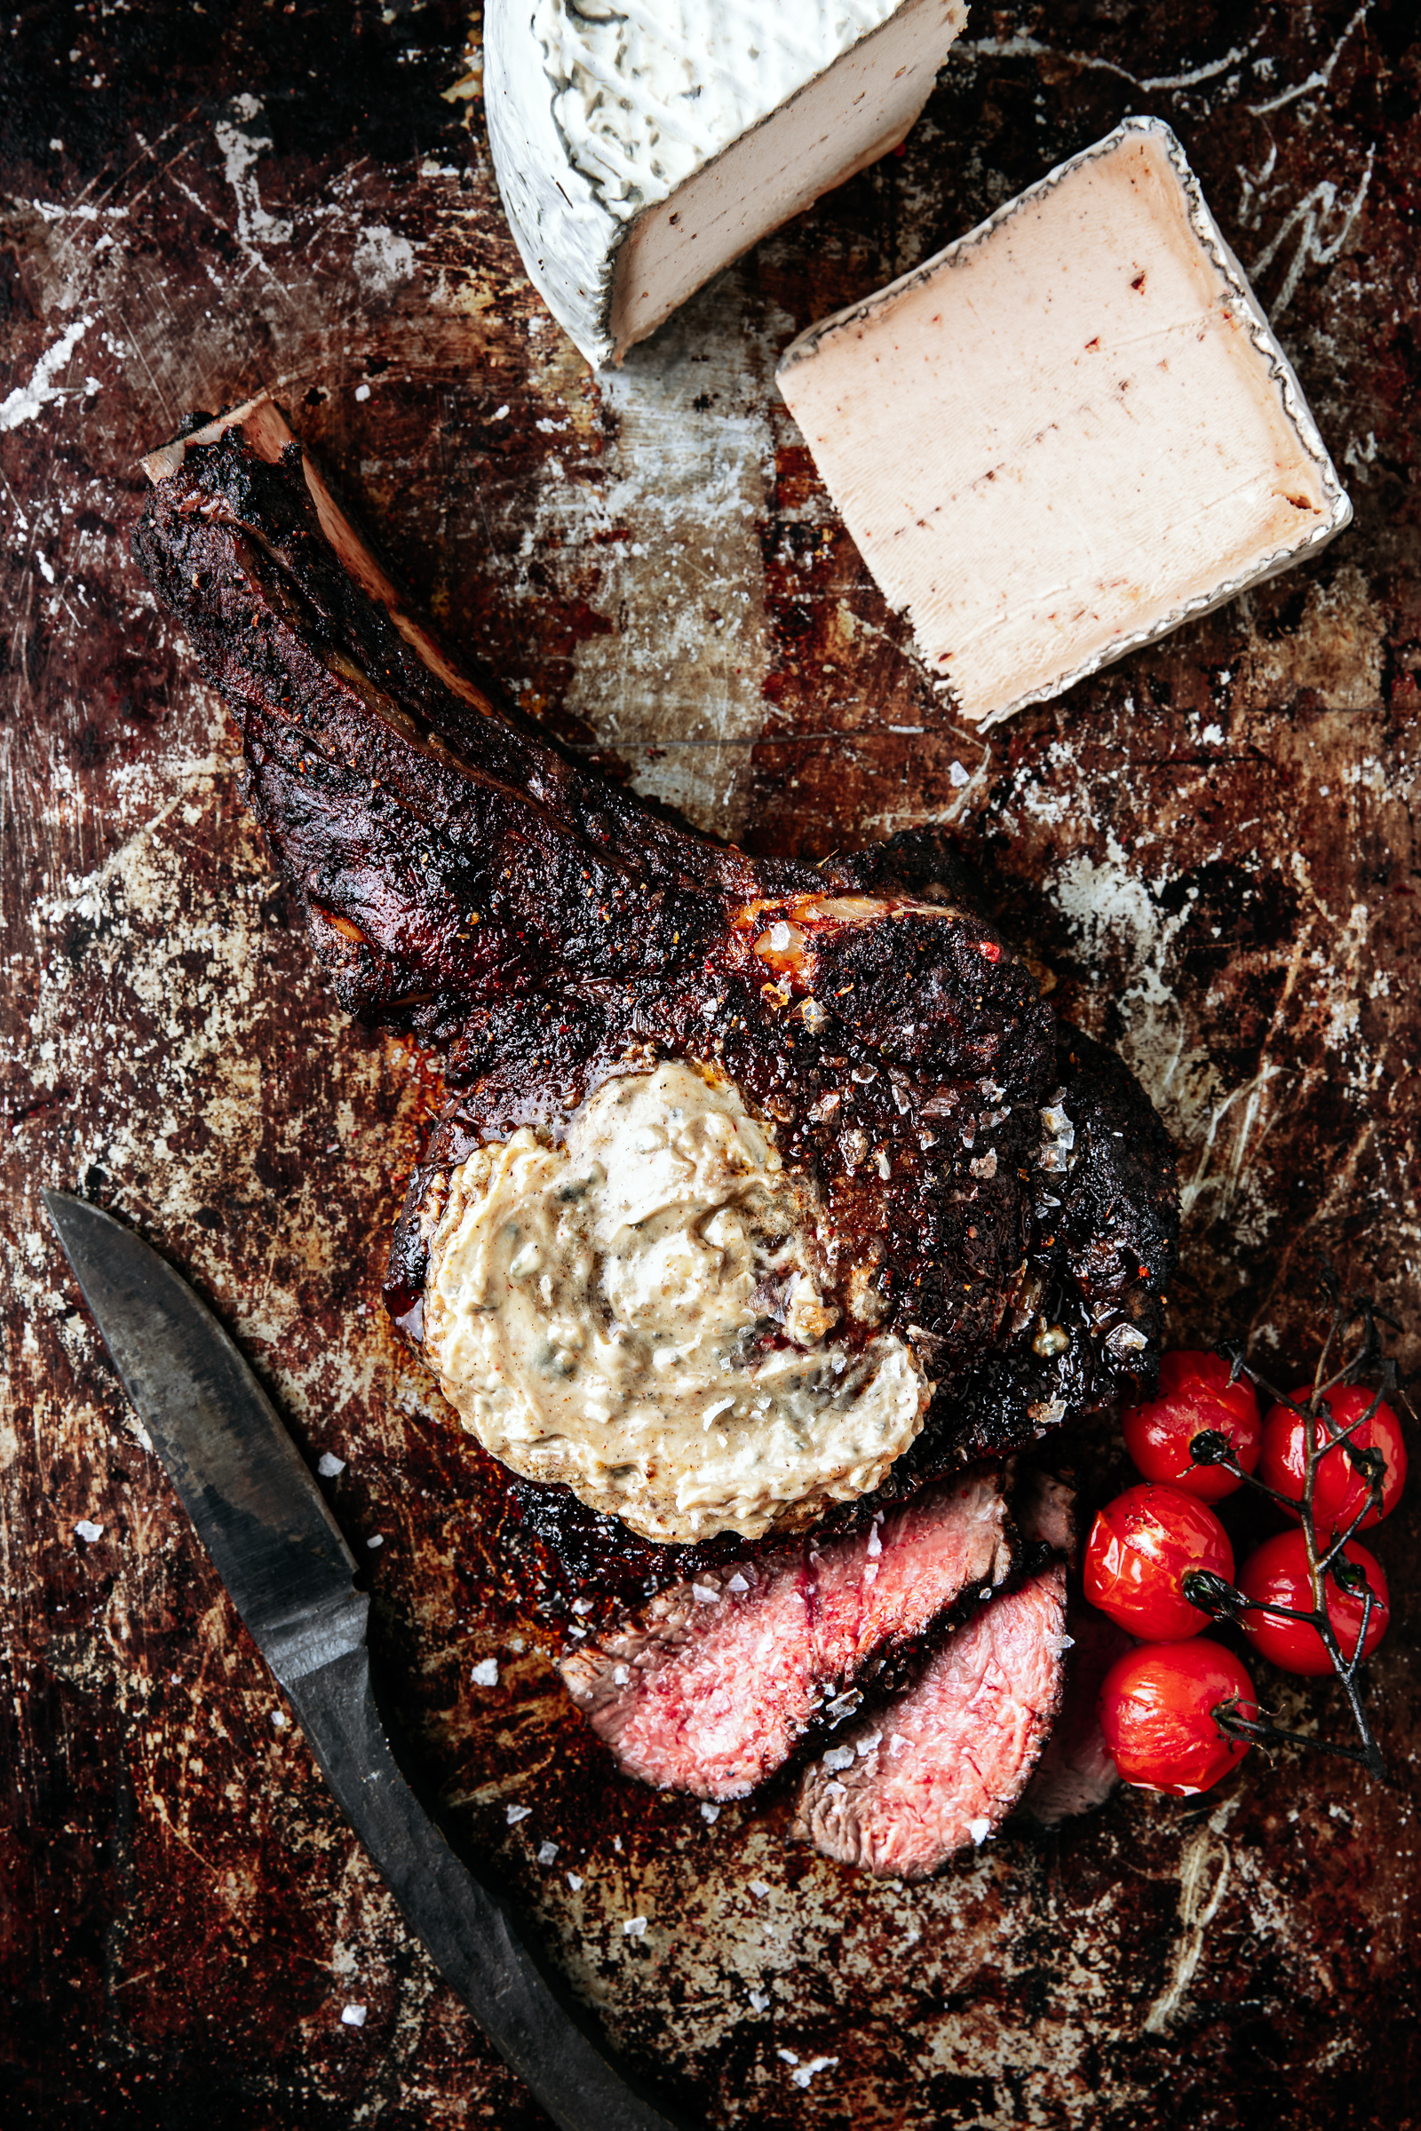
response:
<path id="1" fill-rule="evenodd" d="M 1193 1494 L 1153 1483 L 1127 1487 L 1091 1526 L 1087 1598 L 1150 1643 L 1178 1643 L 1208 1628 L 1208 1613 L 1180 1590 L 1189 1568 L 1212 1568 L 1234 1581 L 1229 1534 Z"/>

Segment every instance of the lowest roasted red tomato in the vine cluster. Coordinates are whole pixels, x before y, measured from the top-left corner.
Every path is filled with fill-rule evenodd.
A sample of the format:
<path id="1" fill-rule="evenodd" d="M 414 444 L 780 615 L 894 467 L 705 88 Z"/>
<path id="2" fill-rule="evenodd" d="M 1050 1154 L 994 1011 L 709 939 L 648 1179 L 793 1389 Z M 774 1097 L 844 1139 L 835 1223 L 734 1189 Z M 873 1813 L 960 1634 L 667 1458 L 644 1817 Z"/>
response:
<path id="1" fill-rule="evenodd" d="M 1229 1739 L 1214 1722 L 1214 1711 L 1229 1703 L 1244 1718 L 1259 1713 L 1240 1660 L 1202 1637 L 1127 1649 L 1106 1673 L 1097 1709 L 1127 1784 L 1193 1799 L 1248 1752 L 1246 1739 Z"/>

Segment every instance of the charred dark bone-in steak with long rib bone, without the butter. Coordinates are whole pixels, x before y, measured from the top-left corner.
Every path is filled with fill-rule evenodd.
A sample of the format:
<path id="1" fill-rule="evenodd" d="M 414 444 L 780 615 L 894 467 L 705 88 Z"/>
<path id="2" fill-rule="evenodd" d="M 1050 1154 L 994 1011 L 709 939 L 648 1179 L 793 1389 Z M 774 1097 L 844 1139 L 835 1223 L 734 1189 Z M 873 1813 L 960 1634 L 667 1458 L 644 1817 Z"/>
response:
<path id="1" fill-rule="evenodd" d="M 1057 1029 L 940 835 L 812 867 L 682 831 L 420 656 L 349 528 L 345 560 L 322 531 L 298 445 L 266 435 L 262 456 L 226 428 L 164 460 L 134 554 L 232 705 L 315 953 L 349 1012 L 445 1053 L 450 1110 L 392 1257 L 411 1332 L 441 1176 L 518 1123 L 556 1136 L 614 1072 L 686 1057 L 814 1181 L 846 1334 L 899 1332 L 935 1385 L 884 1494 L 1153 1381 L 1167 1140 L 1118 1061 Z M 1042 1172 L 1059 1089 L 1074 1144 L 1057 1134 Z M 573 1577 L 605 1560 L 609 1519 L 528 1515 Z M 616 1549 L 660 1581 L 684 1551 L 622 1528 Z"/>

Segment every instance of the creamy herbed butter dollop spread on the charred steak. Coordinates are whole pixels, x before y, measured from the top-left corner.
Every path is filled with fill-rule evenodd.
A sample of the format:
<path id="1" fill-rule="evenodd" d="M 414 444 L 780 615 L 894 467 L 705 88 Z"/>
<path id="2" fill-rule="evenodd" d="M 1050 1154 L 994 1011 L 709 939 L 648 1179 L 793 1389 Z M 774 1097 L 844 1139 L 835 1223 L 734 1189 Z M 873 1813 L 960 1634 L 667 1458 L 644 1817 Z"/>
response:
<path id="1" fill-rule="evenodd" d="M 454 1172 L 426 1351 L 516 1473 L 648 1539 L 756 1539 L 876 1487 L 927 1411 L 905 1340 L 844 1340 L 807 1219 L 729 1080 L 609 1080 L 565 1144 L 522 1127 Z"/>

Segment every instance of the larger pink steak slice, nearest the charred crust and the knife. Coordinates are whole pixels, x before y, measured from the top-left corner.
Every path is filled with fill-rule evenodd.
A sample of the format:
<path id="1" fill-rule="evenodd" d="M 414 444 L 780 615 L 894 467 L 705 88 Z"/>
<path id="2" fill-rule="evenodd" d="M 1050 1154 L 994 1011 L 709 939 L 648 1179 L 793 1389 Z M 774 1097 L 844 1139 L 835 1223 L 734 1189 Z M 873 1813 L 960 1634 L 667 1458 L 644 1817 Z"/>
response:
<path id="1" fill-rule="evenodd" d="M 660 1592 L 562 1658 L 562 1679 L 628 1775 L 739 1799 L 850 1681 L 967 1592 L 1008 1575 L 999 1466 L 925 1487 L 837 1539 L 756 1549 Z M 852 1705 L 850 1705 L 852 1707 Z"/>

